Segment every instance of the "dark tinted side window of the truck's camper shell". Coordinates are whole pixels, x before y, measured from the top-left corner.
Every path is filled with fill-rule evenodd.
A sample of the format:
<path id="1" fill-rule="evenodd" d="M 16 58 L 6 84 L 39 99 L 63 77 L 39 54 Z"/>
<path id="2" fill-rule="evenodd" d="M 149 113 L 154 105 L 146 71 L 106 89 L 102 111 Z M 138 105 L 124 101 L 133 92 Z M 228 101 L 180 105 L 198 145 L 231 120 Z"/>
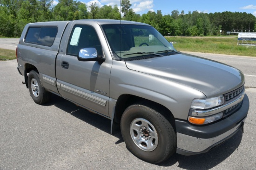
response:
<path id="1" fill-rule="evenodd" d="M 30 27 L 25 37 L 26 43 L 52 46 L 58 27 Z"/>

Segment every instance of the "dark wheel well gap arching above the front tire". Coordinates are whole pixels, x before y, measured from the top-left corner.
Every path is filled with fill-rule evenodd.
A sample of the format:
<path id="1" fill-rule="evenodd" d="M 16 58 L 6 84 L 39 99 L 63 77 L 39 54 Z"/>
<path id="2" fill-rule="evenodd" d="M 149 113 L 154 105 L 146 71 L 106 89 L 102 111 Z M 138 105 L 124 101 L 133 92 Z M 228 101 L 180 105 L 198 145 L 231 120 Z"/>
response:
<path id="1" fill-rule="evenodd" d="M 166 108 L 166 107 L 162 106 L 161 104 L 156 103 L 154 101 L 150 101 L 150 100 L 147 100 L 147 99 L 135 96 L 135 95 L 131 95 L 131 94 L 123 94 L 118 98 L 116 105 L 115 105 L 114 121 L 116 123 L 120 124 L 121 117 L 122 117 L 122 114 L 125 111 L 125 109 L 135 103 L 143 104 L 145 106 L 148 106 L 148 107 L 151 107 L 151 108 L 157 110 L 158 112 L 161 112 L 161 114 L 171 123 L 171 125 L 173 126 L 173 128 L 176 132 L 175 118 L 168 108 Z"/>

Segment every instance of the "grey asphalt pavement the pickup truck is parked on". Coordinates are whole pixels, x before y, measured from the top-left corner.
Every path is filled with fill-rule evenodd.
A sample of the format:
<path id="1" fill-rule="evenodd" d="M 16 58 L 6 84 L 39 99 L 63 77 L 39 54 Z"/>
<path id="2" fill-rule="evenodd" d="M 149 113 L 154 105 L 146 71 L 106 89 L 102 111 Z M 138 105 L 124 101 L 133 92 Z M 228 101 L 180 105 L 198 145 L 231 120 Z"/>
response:
<path id="1" fill-rule="evenodd" d="M 236 133 L 208 153 L 174 154 L 157 165 L 132 155 L 121 133 L 110 134 L 110 120 L 104 117 L 55 95 L 46 105 L 35 104 L 21 83 L 16 60 L 0 62 L 0 170 L 256 170 L 256 60 L 197 55 L 234 65 L 249 75 L 245 78 L 250 109 L 244 133 Z"/>

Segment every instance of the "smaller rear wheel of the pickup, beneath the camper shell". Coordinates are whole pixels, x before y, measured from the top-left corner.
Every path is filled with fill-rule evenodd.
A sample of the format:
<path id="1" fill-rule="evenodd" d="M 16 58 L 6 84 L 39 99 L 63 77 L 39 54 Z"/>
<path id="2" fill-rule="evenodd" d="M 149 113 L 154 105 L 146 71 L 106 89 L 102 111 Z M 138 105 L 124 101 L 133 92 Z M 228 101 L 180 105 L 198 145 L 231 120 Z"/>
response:
<path id="1" fill-rule="evenodd" d="M 40 76 L 35 71 L 30 71 L 28 74 L 28 89 L 32 99 L 37 104 L 41 105 L 51 99 L 51 93 L 42 86 Z"/>

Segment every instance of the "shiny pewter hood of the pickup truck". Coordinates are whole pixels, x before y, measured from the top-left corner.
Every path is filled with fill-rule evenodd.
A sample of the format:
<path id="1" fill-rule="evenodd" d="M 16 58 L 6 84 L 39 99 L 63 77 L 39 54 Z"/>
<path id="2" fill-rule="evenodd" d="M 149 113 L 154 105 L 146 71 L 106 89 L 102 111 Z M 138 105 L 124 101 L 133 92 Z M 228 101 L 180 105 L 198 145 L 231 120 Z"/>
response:
<path id="1" fill-rule="evenodd" d="M 229 65 L 189 54 L 127 61 L 128 69 L 195 88 L 207 97 L 225 94 L 244 83 L 243 73 Z"/>

